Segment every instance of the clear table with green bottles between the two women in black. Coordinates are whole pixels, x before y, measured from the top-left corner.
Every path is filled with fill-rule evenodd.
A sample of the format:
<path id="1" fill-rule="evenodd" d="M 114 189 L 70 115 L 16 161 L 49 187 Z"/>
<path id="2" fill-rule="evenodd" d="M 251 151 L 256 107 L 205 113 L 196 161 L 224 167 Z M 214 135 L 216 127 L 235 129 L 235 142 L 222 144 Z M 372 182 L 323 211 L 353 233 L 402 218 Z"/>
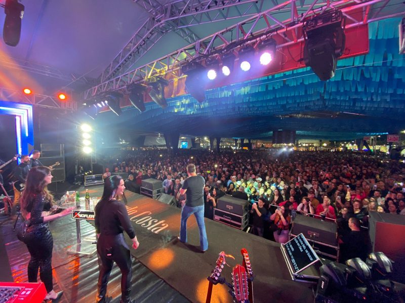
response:
<path id="1" fill-rule="evenodd" d="M 67 191 L 60 201 L 58 201 L 58 207 L 61 209 L 74 207 L 72 210 L 72 219 L 76 221 L 76 243 L 68 249 L 68 254 L 91 256 L 96 252 L 96 235 L 94 234 L 94 236 L 88 236 L 82 239 L 80 221 L 94 221 L 94 207 L 98 199 L 98 197 L 91 197 L 86 189 L 86 195 L 84 197 L 80 197 L 78 191 Z"/>

